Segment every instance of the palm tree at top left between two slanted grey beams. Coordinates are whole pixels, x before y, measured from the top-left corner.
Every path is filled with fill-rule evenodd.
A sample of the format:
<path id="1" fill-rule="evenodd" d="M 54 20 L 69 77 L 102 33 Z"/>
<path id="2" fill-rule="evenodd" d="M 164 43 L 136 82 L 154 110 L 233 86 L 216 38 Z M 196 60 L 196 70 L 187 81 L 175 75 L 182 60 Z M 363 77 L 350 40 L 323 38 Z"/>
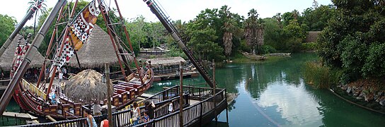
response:
<path id="1" fill-rule="evenodd" d="M 42 15 L 42 13 L 47 12 L 47 4 L 45 4 L 45 1 L 43 0 L 30 0 L 28 2 L 28 5 L 30 5 L 28 8 L 28 11 L 30 11 L 30 8 L 32 8 L 33 6 L 38 6 L 38 7 L 40 6 L 40 8 L 35 11 L 35 22 L 33 23 L 33 37 L 34 37 L 36 32 L 36 19 L 38 18 L 38 16 Z"/>

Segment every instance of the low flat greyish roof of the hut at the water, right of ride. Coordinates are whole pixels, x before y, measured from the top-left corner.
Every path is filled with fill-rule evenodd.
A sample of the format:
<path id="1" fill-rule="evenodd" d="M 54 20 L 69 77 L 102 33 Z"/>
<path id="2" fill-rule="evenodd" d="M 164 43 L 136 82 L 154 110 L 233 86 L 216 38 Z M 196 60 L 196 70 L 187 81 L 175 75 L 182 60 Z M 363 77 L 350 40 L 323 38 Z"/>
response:
<path id="1" fill-rule="evenodd" d="M 151 61 L 152 66 L 171 66 L 171 65 L 179 65 L 180 61 L 185 63 L 185 59 L 180 56 L 176 57 L 168 57 L 168 58 L 157 58 L 157 59 L 147 59 L 147 61 Z"/>

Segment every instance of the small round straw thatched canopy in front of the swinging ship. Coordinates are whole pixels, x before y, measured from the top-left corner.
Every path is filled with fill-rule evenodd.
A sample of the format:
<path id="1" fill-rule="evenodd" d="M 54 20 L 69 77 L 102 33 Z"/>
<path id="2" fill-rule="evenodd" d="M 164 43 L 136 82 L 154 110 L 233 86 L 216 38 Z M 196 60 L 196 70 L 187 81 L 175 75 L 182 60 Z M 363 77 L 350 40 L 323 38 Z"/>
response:
<path id="1" fill-rule="evenodd" d="M 83 103 L 106 99 L 107 85 L 102 83 L 101 77 L 101 73 L 91 69 L 81 71 L 67 81 L 64 94 L 75 102 Z M 111 87 L 111 90 L 113 90 L 113 87 Z"/>

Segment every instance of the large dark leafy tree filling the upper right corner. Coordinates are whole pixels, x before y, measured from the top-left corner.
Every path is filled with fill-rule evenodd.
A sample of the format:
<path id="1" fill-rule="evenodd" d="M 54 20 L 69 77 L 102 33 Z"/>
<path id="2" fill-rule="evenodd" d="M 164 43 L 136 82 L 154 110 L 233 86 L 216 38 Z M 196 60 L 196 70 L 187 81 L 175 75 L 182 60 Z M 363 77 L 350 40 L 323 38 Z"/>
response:
<path id="1" fill-rule="evenodd" d="M 343 70 L 343 83 L 384 78 L 385 2 L 333 0 L 337 13 L 318 38 L 326 65 Z"/>

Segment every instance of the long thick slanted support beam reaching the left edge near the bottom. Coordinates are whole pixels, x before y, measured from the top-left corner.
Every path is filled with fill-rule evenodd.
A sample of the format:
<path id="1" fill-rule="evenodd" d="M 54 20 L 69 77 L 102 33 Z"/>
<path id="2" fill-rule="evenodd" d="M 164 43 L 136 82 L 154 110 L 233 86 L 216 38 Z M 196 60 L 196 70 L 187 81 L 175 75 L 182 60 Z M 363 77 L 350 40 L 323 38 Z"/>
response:
<path id="1" fill-rule="evenodd" d="M 47 19 L 45 19 L 42 28 L 40 28 L 38 32 L 38 35 L 36 35 L 35 39 L 33 40 L 31 44 L 32 47 L 28 49 L 27 53 L 25 53 L 25 59 L 23 59 L 23 61 L 21 62 L 21 65 L 16 70 L 12 80 L 9 82 L 8 87 L 6 88 L 6 91 L 4 91 L 4 94 L 0 99 L 0 116 L 3 115 L 3 112 L 5 111 L 6 106 L 8 105 L 8 102 L 13 95 L 13 92 L 16 90 L 16 85 L 20 83 L 20 80 L 23 77 L 26 68 L 28 68 L 30 61 L 33 60 L 33 55 L 38 53 L 38 48 L 40 47 L 42 40 L 44 40 L 45 34 L 50 28 L 54 17 L 57 16 L 57 13 L 59 13 L 60 8 L 62 8 L 62 6 L 64 6 L 65 4 L 67 4 L 67 1 L 65 0 L 57 1 L 57 4 L 54 6 L 54 8 L 52 8 L 50 15 L 47 17 Z"/>

